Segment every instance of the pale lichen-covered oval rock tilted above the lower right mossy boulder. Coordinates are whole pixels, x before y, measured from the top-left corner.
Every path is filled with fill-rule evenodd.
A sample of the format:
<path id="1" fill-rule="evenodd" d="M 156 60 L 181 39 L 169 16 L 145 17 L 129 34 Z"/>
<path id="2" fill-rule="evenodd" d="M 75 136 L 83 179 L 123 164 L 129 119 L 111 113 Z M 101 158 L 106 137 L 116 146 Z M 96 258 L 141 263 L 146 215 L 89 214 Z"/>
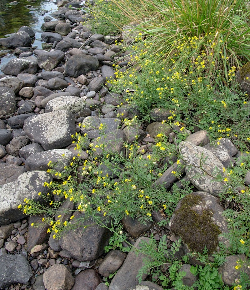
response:
<path id="1" fill-rule="evenodd" d="M 227 188 L 224 165 L 212 152 L 187 141 L 181 142 L 179 149 L 181 159 L 187 163 L 187 177 L 198 190 L 217 196 Z M 218 173 L 222 181 L 215 180 Z"/>

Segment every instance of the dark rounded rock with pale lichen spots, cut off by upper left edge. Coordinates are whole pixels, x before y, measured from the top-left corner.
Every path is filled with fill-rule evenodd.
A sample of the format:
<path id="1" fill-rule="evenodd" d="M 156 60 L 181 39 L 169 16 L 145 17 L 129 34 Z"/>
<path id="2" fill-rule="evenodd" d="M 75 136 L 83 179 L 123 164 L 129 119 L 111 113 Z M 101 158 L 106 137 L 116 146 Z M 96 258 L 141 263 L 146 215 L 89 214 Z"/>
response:
<path id="1" fill-rule="evenodd" d="M 0 87 L 0 114 L 8 115 L 15 112 L 16 95 L 12 89 Z"/>

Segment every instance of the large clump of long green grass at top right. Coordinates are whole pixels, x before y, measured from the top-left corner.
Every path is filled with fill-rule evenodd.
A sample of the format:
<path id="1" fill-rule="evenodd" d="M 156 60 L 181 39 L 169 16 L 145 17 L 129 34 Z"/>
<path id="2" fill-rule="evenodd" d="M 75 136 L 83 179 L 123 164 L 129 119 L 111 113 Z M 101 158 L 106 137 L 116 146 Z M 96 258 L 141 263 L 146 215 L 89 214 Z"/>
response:
<path id="1" fill-rule="evenodd" d="M 117 7 L 131 22 L 138 24 L 135 29 L 143 33 L 148 43 L 153 43 L 152 53 L 160 60 L 165 59 L 166 66 L 180 52 L 173 44 L 183 36 L 201 40 L 193 49 L 194 54 L 197 50 L 210 53 L 222 41 L 221 50 L 212 49 L 212 52 L 216 59 L 224 56 L 228 62 L 215 61 L 212 74 L 216 76 L 219 71 L 227 75 L 227 64 L 239 67 L 250 60 L 249 12 L 245 12 L 245 4 L 241 0 L 139 0 L 131 5 L 127 0 L 120 0 Z M 213 35 L 211 43 L 202 38 L 208 33 Z"/>

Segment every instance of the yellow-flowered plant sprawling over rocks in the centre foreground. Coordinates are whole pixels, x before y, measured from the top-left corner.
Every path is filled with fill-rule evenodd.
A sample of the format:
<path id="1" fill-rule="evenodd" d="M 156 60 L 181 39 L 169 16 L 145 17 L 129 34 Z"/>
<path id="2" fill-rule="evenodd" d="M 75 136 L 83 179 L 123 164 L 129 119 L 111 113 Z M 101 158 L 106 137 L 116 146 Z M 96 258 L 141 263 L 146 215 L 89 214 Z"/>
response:
<path id="1" fill-rule="evenodd" d="M 124 121 L 127 124 L 133 123 L 133 120 Z M 105 135 L 103 124 L 100 125 L 99 131 L 100 136 Z M 123 152 L 119 153 L 108 150 L 108 141 L 105 139 L 103 143 L 90 142 L 87 134 L 83 136 L 78 133 L 73 138 L 78 152 L 86 149 L 86 144 L 89 144 L 86 150 L 89 158 L 82 160 L 78 153 L 61 172 L 53 170 L 54 166 L 50 161 L 48 165 L 51 168 L 47 172 L 53 174 L 57 180 L 44 183 L 48 193 L 39 193 L 44 203 L 25 199 L 25 205 L 19 206 L 26 214 L 45 214 L 43 223 L 50 225 L 48 232 L 52 232 L 54 238 L 59 238 L 64 230 L 80 226 L 79 219 L 75 218 L 76 212 L 84 213 L 81 215 L 83 228 L 84 220 L 91 217 L 93 223 L 100 226 L 107 226 L 105 221 L 111 221 L 110 229 L 120 234 L 121 220 L 124 217 L 138 218 L 140 222 L 145 223 L 147 220 L 153 221 L 153 210 L 161 210 L 170 218 L 178 201 L 189 193 L 177 189 L 177 194 L 172 195 L 164 186 L 153 185 L 173 163 L 165 162 L 162 156 L 176 154 L 174 146 L 169 144 L 163 134 L 156 138 L 158 142 L 153 152 L 145 155 L 138 152 L 137 142 L 125 143 Z M 102 153 L 97 154 L 97 149 L 101 149 L 98 152 Z M 58 214 L 58 209 L 65 200 L 73 202 L 74 209 L 63 213 L 60 211 Z"/>

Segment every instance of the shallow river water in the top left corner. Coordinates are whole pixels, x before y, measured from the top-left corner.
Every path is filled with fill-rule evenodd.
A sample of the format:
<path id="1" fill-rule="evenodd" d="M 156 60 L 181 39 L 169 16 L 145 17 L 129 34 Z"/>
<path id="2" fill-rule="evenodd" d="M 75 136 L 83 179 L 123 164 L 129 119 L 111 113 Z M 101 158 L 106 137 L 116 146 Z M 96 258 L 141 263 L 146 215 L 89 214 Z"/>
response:
<path id="1" fill-rule="evenodd" d="M 9 5 L 12 0 L 0 0 L 0 38 L 16 33 L 24 25 L 32 28 L 36 34 L 32 46 L 42 48 L 41 30 L 43 18 L 57 10 L 57 5 L 51 0 L 17 0 L 18 4 Z M 56 19 L 53 19 L 56 20 Z M 0 46 L 1 57 L 0 69 L 9 59 L 15 58 L 11 49 Z M 0 74 L 2 72 L 0 71 Z"/>

